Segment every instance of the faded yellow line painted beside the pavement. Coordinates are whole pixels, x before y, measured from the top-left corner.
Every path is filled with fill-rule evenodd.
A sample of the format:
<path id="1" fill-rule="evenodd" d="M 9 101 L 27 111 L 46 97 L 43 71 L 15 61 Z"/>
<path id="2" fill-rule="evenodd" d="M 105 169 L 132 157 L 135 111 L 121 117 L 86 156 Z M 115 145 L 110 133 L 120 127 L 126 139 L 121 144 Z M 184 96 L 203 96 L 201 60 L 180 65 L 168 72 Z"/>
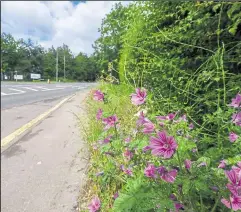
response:
<path id="1" fill-rule="evenodd" d="M 16 131 L 14 131 L 13 133 L 11 133 L 10 135 L 6 136 L 5 138 L 3 138 L 1 140 L 1 148 L 6 146 L 7 144 L 9 144 L 11 141 L 13 141 L 15 138 L 17 138 L 18 136 L 20 136 L 22 133 L 24 133 L 26 130 L 30 129 L 32 126 L 34 126 L 35 124 L 37 124 L 39 121 L 43 120 L 44 118 L 46 118 L 50 113 L 52 113 L 53 111 L 55 111 L 56 109 L 58 109 L 62 104 L 64 104 L 66 101 L 68 101 L 69 99 L 71 99 L 74 95 L 67 97 L 65 99 L 63 99 L 61 102 L 59 102 L 57 105 L 55 105 L 54 107 L 52 107 L 50 110 L 46 111 L 45 113 L 39 115 L 38 117 L 36 117 L 35 119 L 33 119 L 32 121 L 28 122 L 27 124 L 23 125 L 22 127 L 18 128 Z"/>

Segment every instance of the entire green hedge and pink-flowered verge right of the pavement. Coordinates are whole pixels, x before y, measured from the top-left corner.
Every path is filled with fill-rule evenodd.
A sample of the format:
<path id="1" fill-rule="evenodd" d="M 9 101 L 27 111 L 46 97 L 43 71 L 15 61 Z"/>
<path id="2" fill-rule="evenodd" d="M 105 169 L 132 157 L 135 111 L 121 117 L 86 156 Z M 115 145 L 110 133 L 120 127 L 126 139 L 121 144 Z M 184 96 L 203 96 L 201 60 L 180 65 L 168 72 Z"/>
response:
<path id="1" fill-rule="evenodd" d="M 148 1 L 106 16 L 83 211 L 241 211 L 240 11 Z"/>

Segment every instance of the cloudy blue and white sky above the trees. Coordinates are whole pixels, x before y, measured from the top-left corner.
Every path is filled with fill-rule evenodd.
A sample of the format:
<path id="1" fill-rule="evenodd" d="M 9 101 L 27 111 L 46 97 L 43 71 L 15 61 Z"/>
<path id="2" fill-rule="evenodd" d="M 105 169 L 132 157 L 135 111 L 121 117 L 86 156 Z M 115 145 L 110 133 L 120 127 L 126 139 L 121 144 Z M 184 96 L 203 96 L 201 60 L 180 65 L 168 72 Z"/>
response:
<path id="1" fill-rule="evenodd" d="M 31 38 L 44 48 L 67 44 L 77 55 L 93 53 L 101 20 L 117 1 L 2 1 L 1 32 Z M 129 2 L 122 2 L 127 5 Z"/>

